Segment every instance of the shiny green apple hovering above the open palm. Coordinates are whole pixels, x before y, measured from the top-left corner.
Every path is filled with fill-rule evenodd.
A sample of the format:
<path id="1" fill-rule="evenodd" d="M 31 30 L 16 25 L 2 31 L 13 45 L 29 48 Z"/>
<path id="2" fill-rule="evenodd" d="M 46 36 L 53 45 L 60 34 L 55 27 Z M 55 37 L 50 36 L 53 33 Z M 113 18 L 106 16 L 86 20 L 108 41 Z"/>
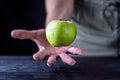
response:
<path id="1" fill-rule="evenodd" d="M 46 26 L 46 38 L 54 47 L 70 45 L 76 35 L 76 25 L 72 21 L 52 20 Z"/>

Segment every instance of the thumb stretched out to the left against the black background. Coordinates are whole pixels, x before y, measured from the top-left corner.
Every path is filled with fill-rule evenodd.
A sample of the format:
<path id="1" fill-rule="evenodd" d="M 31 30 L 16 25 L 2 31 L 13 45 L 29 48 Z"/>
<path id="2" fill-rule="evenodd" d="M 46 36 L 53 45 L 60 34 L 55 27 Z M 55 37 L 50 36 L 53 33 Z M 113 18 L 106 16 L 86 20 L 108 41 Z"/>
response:
<path id="1" fill-rule="evenodd" d="M 35 33 L 32 31 L 19 29 L 19 30 L 13 30 L 11 32 L 11 36 L 17 39 L 30 39 L 35 36 Z"/>

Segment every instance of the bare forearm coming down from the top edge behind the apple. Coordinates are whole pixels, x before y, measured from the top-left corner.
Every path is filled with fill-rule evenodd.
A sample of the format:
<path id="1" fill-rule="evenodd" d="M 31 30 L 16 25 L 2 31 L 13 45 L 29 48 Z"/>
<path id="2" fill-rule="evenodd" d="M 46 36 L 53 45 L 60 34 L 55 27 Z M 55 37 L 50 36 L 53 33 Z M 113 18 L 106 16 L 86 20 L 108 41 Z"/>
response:
<path id="1" fill-rule="evenodd" d="M 46 24 L 54 19 L 70 19 L 74 0 L 46 0 Z"/>

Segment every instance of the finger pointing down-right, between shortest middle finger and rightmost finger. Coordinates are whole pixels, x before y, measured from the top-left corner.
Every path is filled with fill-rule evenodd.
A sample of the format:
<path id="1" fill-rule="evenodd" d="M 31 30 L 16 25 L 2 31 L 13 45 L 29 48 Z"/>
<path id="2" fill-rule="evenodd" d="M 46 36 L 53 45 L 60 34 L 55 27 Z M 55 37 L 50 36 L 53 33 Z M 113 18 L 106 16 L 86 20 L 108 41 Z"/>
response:
<path id="1" fill-rule="evenodd" d="M 76 61 L 65 53 L 59 54 L 59 57 L 64 63 L 67 63 L 68 65 L 74 66 L 76 64 Z"/>

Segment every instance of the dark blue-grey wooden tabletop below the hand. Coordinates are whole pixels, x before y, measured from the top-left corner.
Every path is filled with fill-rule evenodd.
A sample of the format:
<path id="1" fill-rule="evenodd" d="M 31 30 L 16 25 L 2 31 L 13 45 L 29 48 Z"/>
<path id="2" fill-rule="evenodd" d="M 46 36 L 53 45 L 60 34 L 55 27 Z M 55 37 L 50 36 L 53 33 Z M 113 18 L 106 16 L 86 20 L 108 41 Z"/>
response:
<path id="1" fill-rule="evenodd" d="M 68 66 L 58 59 L 53 67 L 32 56 L 0 56 L 0 80 L 120 80 L 119 58 L 75 58 Z"/>

